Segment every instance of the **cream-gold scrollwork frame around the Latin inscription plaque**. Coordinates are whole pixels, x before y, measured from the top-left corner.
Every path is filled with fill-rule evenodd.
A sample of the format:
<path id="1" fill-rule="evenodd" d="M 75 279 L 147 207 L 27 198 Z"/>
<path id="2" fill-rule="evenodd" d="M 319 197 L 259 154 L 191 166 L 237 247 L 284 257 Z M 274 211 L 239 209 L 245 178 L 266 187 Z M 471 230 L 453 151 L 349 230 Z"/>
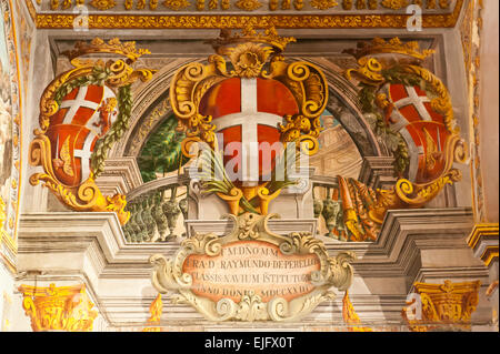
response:
<path id="1" fill-rule="evenodd" d="M 309 314 L 323 301 L 333 300 L 336 294 L 330 291 L 349 289 L 353 277 L 350 262 L 354 261 L 353 252 L 340 252 L 331 257 L 324 244 L 310 233 L 291 233 L 280 235 L 271 232 L 268 220 L 276 214 L 257 215 L 246 213 L 240 216 L 229 214 L 233 222 L 233 230 L 227 235 L 219 236 L 213 233 L 197 234 L 182 242 L 177 254 L 167 259 L 162 254 L 154 254 L 150 262 L 154 269 L 151 276 L 153 286 L 160 293 L 176 292 L 172 302 L 193 306 L 210 321 L 297 321 Z M 320 260 L 320 270 L 311 273 L 311 283 L 314 290 L 290 302 L 283 297 L 273 297 L 262 302 L 256 294 L 241 296 L 240 302 L 223 297 L 217 303 L 210 299 L 196 295 L 191 291 L 192 276 L 183 273 L 186 259 L 191 254 L 217 256 L 222 246 L 239 241 L 263 241 L 277 245 L 282 254 L 316 254 Z"/>

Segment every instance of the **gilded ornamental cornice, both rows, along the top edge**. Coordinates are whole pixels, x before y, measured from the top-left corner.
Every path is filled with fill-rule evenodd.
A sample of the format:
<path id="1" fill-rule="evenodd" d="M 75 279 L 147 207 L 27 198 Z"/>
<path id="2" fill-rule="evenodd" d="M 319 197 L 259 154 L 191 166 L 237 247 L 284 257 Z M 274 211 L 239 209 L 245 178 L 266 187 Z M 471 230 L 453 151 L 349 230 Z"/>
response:
<path id="1" fill-rule="evenodd" d="M 112 3 L 110 1 L 94 1 L 93 3 L 104 2 Z M 457 0 L 451 12 L 448 7 L 436 9 L 424 7 L 422 27 L 454 27 L 463 2 L 463 0 Z M 179 13 L 181 8 L 174 7 L 173 3 L 184 3 L 186 7 L 182 7 L 184 12 Z M 407 27 L 409 16 L 406 14 L 404 8 L 386 8 L 382 3 L 374 7 L 373 3 L 368 1 L 364 7 L 354 6 L 347 11 L 343 2 L 318 0 L 270 1 L 268 7 L 261 6 L 262 3 L 257 0 L 234 2 L 228 0 L 144 1 L 143 7 L 139 6 L 139 2 L 127 1 L 120 2 L 108 10 L 97 10 L 90 7 L 88 18 L 90 29 L 220 29 L 242 28 L 248 21 L 251 21 L 258 28 L 267 28 L 271 24 L 276 28 L 296 29 Z M 71 9 L 64 10 L 62 2 L 57 10 L 44 8 L 42 8 L 43 10 L 37 10 L 31 0 L 27 0 L 27 6 L 39 29 L 70 29 L 73 27 L 73 19 L 77 14 L 73 14 Z M 102 9 L 104 8 L 102 6 Z M 216 10 L 217 14 L 213 12 Z M 249 13 L 252 11 L 257 11 L 256 14 Z M 189 14 L 186 14 L 186 12 L 189 12 Z"/>

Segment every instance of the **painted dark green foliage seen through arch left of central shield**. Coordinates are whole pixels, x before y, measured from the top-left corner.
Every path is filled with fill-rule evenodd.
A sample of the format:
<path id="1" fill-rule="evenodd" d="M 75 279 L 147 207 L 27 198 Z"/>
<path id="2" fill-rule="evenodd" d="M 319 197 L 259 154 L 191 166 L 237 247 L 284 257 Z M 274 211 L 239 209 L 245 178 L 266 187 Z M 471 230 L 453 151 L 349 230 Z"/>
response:
<path id="1" fill-rule="evenodd" d="M 157 173 L 164 175 L 188 162 L 188 159 L 182 155 L 180 145 L 186 135 L 177 131 L 176 127 L 176 117 L 169 117 L 142 148 L 138 164 L 144 182 L 156 180 Z"/>

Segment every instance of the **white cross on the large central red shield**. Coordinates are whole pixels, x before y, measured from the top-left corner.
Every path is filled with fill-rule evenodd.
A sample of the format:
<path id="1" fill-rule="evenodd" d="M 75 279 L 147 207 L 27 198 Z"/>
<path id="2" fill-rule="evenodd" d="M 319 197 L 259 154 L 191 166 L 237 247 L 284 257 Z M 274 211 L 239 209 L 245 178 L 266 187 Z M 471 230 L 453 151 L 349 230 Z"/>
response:
<path id="1" fill-rule="evenodd" d="M 259 181 L 259 138 L 257 127 L 278 129 L 283 118 L 257 111 L 257 79 L 241 79 L 241 112 L 214 120 L 217 132 L 241 125 L 241 170 L 243 185 L 257 185 Z"/>

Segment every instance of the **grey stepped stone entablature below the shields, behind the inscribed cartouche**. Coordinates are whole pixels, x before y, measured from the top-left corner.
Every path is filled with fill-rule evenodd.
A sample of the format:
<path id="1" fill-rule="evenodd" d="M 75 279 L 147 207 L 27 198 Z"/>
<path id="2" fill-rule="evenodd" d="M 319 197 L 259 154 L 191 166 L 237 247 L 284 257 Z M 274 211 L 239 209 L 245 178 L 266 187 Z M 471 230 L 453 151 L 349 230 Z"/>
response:
<path id="1" fill-rule="evenodd" d="M 426 224 L 421 223 L 422 220 L 426 220 Z M 358 260 L 352 264 L 356 274 L 349 295 L 363 322 L 362 326 L 376 330 L 377 323 L 381 326 L 387 325 L 389 318 L 394 322 L 401 321 L 400 313 L 394 312 L 394 309 L 401 309 L 401 304 L 404 303 L 410 290 L 407 282 L 409 284 L 414 281 L 432 282 L 437 277 L 460 281 L 479 279 L 484 284 L 488 282 L 488 270 L 473 257 L 464 242 L 472 225 L 471 210 L 462 208 L 390 211 L 376 243 L 338 242 L 322 236 L 317 239 L 324 243 L 330 255 L 342 251 L 353 251 L 358 255 Z M 287 220 L 269 221 L 269 229 L 280 234 L 297 231 L 299 227 L 291 225 Z M 62 279 L 70 280 L 72 284 L 86 283 L 99 313 L 106 317 L 111 327 L 131 328 L 130 323 L 133 322 L 141 324 L 138 331 L 143 328 L 149 316 L 148 306 L 158 294 L 151 290 L 151 264 L 148 257 L 157 253 L 171 257 L 178 250 L 177 242 L 139 245 L 127 243 L 118 219 L 112 213 L 52 212 L 20 215 L 19 274 L 33 269 L 43 273 L 36 279 L 31 275 L 22 281 L 32 284 L 37 280 L 42 284 L 42 280 L 46 280 L 43 286 L 48 286 L 49 282 L 60 282 Z M 61 252 L 71 254 L 71 262 L 68 262 L 67 257 L 60 257 Z M 439 264 L 433 262 L 437 252 L 447 254 Z M 456 263 L 457 257 L 461 259 L 460 265 Z M 129 286 L 110 297 L 108 290 L 113 289 L 117 281 L 123 280 L 127 280 Z M 391 282 L 391 286 L 388 287 L 383 280 Z M 363 282 L 371 284 L 370 290 L 364 286 L 357 287 L 357 284 Z M 147 294 L 138 292 L 141 289 L 150 291 Z M 367 292 L 379 292 L 383 295 L 374 296 Z M 254 325 L 251 323 L 246 325 L 242 322 L 238 325 L 208 323 L 191 306 L 171 304 L 170 294 L 164 295 L 162 300 L 164 304 L 169 303 L 164 309 L 169 312 L 161 323 L 162 330 L 178 323 L 182 323 L 184 330 L 198 325 L 204 328 L 228 330 L 237 326 L 251 331 Z M 320 304 L 304 318 L 304 323 L 314 322 L 318 326 L 333 325 L 342 327 L 339 331 L 346 331 L 341 300 L 338 299 L 338 306 L 331 306 L 329 303 Z M 127 305 L 129 311 L 123 312 L 123 305 Z M 484 304 L 479 306 L 478 314 L 481 316 L 476 318 L 478 322 L 474 320 L 474 323 L 489 321 L 489 307 Z M 488 315 L 486 320 L 482 315 L 484 313 Z M 332 315 L 337 318 L 333 323 Z M 276 328 L 272 323 L 259 325 Z M 297 327 L 293 323 L 279 325 L 280 328 L 293 331 L 304 326 L 301 324 Z"/>

